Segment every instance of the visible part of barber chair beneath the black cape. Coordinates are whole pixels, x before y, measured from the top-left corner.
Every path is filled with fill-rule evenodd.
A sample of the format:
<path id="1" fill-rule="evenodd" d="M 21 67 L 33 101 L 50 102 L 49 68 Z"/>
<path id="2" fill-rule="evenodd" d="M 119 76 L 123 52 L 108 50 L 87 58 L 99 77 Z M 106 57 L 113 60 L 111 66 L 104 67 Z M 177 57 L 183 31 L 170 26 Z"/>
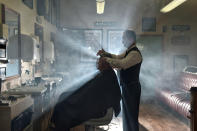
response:
<path id="1" fill-rule="evenodd" d="M 91 119 L 84 123 L 86 131 L 96 131 L 98 126 L 108 125 L 113 118 L 113 108 L 109 108 L 104 117 Z"/>

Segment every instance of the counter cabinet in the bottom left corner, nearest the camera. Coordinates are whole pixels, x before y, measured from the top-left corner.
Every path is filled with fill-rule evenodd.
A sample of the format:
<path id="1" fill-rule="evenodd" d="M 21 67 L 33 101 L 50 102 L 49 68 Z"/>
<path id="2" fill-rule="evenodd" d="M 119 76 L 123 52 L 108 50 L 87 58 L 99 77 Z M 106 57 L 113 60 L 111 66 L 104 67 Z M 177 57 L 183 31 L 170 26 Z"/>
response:
<path id="1" fill-rule="evenodd" d="M 7 100 L 8 101 L 8 100 Z M 24 129 L 31 121 L 33 99 L 30 96 L 0 106 L 0 131 Z"/>

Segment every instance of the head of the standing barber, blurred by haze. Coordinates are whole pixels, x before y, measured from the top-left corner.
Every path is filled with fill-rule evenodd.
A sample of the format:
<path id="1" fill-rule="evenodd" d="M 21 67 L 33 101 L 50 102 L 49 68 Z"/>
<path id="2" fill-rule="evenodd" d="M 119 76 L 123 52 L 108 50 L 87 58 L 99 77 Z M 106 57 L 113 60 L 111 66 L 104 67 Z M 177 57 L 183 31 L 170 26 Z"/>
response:
<path id="1" fill-rule="evenodd" d="M 136 34 L 133 30 L 127 29 L 122 36 L 123 45 L 128 48 L 132 44 L 136 43 Z"/>

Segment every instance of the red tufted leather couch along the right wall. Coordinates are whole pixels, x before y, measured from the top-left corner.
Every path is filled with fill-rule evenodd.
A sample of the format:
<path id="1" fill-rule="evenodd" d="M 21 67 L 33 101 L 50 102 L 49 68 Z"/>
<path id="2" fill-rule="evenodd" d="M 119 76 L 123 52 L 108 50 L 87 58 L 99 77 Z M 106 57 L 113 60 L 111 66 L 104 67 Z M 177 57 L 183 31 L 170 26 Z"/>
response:
<path id="1" fill-rule="evenodd" d="M 165 80 L 169 79 L 169 80 Z M 174 111 L 190 120 L 191 131 L 197 130 L 197 67 L 188 66 L 177 76 L 165 77 L 156 88 L 158 98 Z"/>

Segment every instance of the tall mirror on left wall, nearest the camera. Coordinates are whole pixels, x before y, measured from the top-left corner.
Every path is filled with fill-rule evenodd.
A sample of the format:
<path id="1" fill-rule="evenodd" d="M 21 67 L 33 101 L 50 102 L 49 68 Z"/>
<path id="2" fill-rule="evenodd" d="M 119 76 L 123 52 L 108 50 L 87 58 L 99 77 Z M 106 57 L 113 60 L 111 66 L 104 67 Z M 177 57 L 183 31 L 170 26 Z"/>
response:
<path id="1" fill-rule="evenodd" d="M 7 56 L 9 63 L 7 64 L 6 77 L 20 74 L 20 60 L 19 60 L 19 38 L 20 38 L 20 15 L 5 8 L 5 24 L 8 26 L 8 47 Z M 17 36 L 17 42 L 11 41 L 13 37 Z"/>

